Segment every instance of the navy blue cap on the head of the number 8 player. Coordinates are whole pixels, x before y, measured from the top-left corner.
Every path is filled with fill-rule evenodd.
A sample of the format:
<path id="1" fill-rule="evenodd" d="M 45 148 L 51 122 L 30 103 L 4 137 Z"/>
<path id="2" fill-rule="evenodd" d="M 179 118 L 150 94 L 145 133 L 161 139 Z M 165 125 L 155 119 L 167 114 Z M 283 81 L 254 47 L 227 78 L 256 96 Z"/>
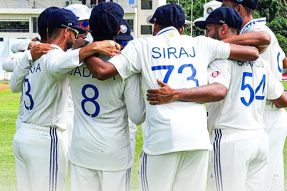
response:
<path id="1" fill-rule="evenodd" d="M 124 10 L 119 4 L 102 2 L 91 12 L 90 30 L 96 34 L 113 34 L 119 30 L 122 17 L 124 17 Z"/>

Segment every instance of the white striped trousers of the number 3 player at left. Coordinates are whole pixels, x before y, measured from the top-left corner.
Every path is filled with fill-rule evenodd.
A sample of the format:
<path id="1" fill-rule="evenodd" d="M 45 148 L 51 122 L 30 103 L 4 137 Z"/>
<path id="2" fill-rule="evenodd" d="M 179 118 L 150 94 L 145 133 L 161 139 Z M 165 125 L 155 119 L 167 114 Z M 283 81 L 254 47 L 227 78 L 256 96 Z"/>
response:
<path id="1" fill-rule="evenodd" d="M 13 138 L 18 191 L 62 191 L 67 151 L 57 128 L 23 123 Z"/>

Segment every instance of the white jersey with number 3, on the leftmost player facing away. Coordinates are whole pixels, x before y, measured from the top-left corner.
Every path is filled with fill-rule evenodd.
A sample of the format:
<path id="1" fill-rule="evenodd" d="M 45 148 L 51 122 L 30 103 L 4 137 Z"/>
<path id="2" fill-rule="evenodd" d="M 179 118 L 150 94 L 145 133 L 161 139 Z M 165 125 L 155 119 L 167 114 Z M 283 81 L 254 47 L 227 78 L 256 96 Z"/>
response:
<path id="1" fill-rule="evenodd" d="M 65 130 L 69 97 L 69 80 L 66 72 L 80 65 L 79 49 L 66 53 L 57 45 L 53 46 L 54 50 L 32 62 L 30 67 L 28 65 L 29 74 L 26 75 L 22 86 L 24 101 L 22 121 Z M 21 62 L 13 72 L 15 77 L 11 85 L 14 89 L 17 89 L 14 86 L 20 84 L 17 81 L 21 81 L 21 76 L 26 72 L 22 63 L 24 62 Z M 66 66 L 65 70 L 61 69 L 63 66 Z"/>

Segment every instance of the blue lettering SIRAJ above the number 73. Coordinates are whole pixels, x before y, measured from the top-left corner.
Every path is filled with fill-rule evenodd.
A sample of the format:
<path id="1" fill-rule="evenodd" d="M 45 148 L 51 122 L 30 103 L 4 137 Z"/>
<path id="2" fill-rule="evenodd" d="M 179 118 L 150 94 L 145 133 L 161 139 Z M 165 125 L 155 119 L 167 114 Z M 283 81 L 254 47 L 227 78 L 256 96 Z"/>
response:
<path id="1" fill-rule="evenodd" d="M 169 47 L 169 48 L 153 47 L 152 56 L 155 59 L 160 58 L 160 57 L 163 57 L 163 58 L 181 58 L 182 56 L 186 56 L 187 58 L 189 58 L 189 57 L 195 56 L 194 47 L 192 47 L 192 50 L 193 50 L 193 52 L 187 52 L 183 47 L 181 47 L 180 49 L 176 49 L 174 47 Z M 191 51 L 191 50 L 189 50 L 189 51 Z"/>

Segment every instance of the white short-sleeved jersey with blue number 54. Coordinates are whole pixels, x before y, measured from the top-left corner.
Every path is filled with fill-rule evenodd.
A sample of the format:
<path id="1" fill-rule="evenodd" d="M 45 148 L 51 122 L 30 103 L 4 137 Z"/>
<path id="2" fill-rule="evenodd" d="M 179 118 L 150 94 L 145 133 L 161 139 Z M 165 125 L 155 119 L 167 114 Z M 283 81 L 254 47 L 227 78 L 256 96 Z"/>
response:
<path id="1" fill-rule="evenodd" d="M 225 99 L 208 103 L 208 128 L 261 129 L 266 99 L 278 99 L 284 88 L 259 57 L 252 62 L 217 59 L 208 66 L 208 82 L 227 88 Z"/>

